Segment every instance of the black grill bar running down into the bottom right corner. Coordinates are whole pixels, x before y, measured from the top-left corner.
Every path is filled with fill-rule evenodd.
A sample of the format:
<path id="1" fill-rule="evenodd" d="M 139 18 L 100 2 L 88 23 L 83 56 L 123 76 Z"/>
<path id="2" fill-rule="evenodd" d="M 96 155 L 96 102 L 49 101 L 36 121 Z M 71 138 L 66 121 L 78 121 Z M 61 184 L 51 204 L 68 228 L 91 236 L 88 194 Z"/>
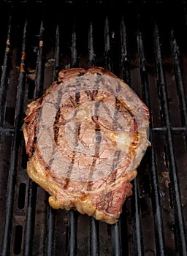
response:
<path id="1" fill-rule="evenodd" d="M 155 26 L 154 30 L 154 40 L 155 40 L 155 53 L 156 53 L 156 64 L 158 69 L 159 75 L 159 89 L 161 93 L 161 108 L 164 114 L 164 123 L 167 127 L 166 137 L 167 137 L 167 154 L 168 154 L 168 161 L 169 161 L 169 174 L 170 179 L 172 182 L 171 187 L 171 197 L 174 207 L 175 213 L 175 222 L 176 222 L 176 247 L 177 251 L 180 255 L 186 255 L 186 236 L 185 236 L 185 227 L 183 222 L 183 214 L 181 208 L 181 201 L 180 201 L 180 188 L 178 184 L 178 174 L 177 174 L 177 167 L 175 163 L 175 153 L 172 143 L 172 130 L 170 128 L 170 121 L 169 121 L 169 109 L 167 105 L 167 89 L 166 89 L 166 82 L 164 79 L 164 69 L 162 66 L 162 59 L 161 59 L 161 47 L 159 41 L 159 29 L 158 26 Z"/>

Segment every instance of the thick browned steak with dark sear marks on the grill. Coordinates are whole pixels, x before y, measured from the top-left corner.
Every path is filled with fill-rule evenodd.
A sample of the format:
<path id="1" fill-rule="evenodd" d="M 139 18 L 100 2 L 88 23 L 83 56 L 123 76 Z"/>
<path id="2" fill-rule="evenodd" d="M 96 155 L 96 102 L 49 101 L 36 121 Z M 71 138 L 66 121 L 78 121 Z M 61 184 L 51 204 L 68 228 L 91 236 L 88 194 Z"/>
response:
<path id="1" fill-rule="evenodd" d="M 61 70 L 28 104 L 27 173 L 53 208 L 113 224 L 148 142 L 149 111 L 126 83 L 101 67 Z"/>

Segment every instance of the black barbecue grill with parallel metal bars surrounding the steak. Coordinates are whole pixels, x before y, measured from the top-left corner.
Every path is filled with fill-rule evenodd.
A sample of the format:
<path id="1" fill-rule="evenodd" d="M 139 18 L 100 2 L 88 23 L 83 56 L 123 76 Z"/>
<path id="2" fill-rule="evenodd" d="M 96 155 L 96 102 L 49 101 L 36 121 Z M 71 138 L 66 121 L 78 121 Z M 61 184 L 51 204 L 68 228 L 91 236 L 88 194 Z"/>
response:
<path id="1" fill-rule="evenodd" d="M 177 1 L 176 1 L 177 2 Z M 186 1 L 1 1 L 1 255 L 187 255 Z M 150 109 L 118 223 L 54 210 L 26 174 L 26 105 L 61 69 L 104 67 Z"/>

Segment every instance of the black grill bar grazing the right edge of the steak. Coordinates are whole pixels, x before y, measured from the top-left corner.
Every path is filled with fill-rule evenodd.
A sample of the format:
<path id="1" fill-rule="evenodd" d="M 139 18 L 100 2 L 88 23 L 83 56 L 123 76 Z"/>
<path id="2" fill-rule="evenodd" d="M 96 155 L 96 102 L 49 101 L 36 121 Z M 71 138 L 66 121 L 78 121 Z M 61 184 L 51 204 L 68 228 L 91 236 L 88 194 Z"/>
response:
<path id="1" fill-rule="evenodd" d="M 144 91 L 144 99 L 145 104 L 148 105 L 148 108 L 151 113 L 150 108 L 150 94 L 149 94 L 149 86 L 148 86 L 148 73 L 146 70 L 146 60 L 145 60 L 145 50 L 143 45 L 142 33 L 139 32 L 137 34 L 137 45 L 139 51 L 139 59 L 140 59 L 140 75 L 141 82 Z M 155 147 L 153 141 L 153 132 L 152 132 L 152 121 L 150 118 L 150 143 L 151 143 L 151 177 L 153 183 L 153 206 L 154 210 L 154 222 L 155 222 L 155 236 L 156 236 L 156 252 L 158 255 L 165 255 L 165 244 L 164 244 L 164 230 L 163 230 L 163 220 L 161 217 L 161 202 L 160 202 L 160 192 L 159 192 L 159 179 L 158 173 L 156 170 L 156 159 L 155 159 Z"/>

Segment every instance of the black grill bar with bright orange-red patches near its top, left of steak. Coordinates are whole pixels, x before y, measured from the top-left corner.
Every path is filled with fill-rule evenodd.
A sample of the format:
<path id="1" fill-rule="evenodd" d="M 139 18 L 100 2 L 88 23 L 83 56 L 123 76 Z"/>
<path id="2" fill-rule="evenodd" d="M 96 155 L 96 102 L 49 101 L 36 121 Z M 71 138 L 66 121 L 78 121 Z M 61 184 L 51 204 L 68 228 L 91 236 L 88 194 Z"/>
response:
<path id="1" fill-rule="evenodd" d="M 20 75 L 18 83 L 18 93 L 15 111 L 15 130 L 12 140 L 11 156 L 9 159 L 9 178 L 7 184 L 7 200 L 6 200 L 6 211 L 4 217 L 4 234 L 3 234 L 3 246 L 1 249 L 2 255 L 9 255 L 10 238 L 12 231 L 12 207 L 15 194 L 15 176 L 16 176 L 16 166 L 18 161 L 18 143 L 20 140 L 20 124 L 21 116 L 23 113 L 23 95 L 25 91 L 26 83 L 26 72 L 25 72 L 25 62 L 26 62 L 26 33 L 27 33 L 27 20 L 23 30 L 23 44 L 22 44 L 22 55 L 20 61 Z"/>

